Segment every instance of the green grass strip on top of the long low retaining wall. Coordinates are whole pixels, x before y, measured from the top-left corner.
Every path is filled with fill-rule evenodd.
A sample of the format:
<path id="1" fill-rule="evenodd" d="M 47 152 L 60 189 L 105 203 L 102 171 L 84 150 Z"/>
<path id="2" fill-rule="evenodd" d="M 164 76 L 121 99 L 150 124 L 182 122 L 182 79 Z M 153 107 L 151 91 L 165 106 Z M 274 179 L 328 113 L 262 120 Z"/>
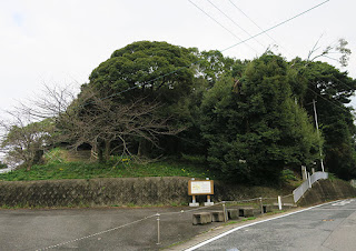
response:
<path id="1" fill-rule="evenodd" d="M 56 157 L 56 158 L 53 158 Z M 186 157 L 184 161 L 166 160 L 151 163 L 136 163 L 129 158 L 113 158 L 108 163 L 88 161 L 67 162 L 59 151 L 53 152 L 52 161 L 42 165 L 1 173 L 2 181 L 61 180 L 61 179 L 96 179 L 96 178 L 138 178 L 138 177 L 189 177 L 198 179 L 216 179 L 217 175 L 206 165 L 197 164 L 198 158 Z"/>

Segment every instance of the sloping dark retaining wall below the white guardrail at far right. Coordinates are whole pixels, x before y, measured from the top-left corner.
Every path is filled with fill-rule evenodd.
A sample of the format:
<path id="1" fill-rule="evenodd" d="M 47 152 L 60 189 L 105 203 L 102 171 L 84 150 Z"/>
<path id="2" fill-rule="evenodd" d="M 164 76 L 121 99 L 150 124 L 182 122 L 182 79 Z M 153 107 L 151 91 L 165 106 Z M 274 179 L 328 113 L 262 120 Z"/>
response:
<path id="1" fill-rule="evenodd" d="M 313 184 L 298 205 L 313 205 L 326 201 L 356 197 L 356 188 L 343 180 L 319 180 Z"/>

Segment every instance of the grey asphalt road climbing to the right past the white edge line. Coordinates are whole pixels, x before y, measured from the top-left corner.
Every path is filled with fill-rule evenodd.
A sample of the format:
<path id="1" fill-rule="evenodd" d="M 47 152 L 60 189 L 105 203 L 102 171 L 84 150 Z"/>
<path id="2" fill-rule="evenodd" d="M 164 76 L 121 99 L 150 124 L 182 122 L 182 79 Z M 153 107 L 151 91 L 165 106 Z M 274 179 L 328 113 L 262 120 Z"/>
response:
<path id="1" fill-rule="evenodd" d="M 356 200 L 237 227 L 190 250 L 356 250 Z"/>

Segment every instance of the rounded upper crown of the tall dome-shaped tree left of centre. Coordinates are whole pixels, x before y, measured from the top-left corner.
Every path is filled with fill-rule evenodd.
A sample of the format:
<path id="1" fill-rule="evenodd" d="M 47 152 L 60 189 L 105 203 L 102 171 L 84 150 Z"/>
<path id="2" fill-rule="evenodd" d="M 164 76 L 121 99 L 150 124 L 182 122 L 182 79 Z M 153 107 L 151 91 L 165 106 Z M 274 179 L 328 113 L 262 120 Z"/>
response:
<path id="1" fill-rule="evenodd" d="M 191 50 L 167 42 L 134 42 L 116 50 L 95 69 L 89 84 L 103 96 L 134 88 L 118 98 L 150 97 L 171 104 L 189 93 L 194 71 L 187 66 L 196 60 Z"/>

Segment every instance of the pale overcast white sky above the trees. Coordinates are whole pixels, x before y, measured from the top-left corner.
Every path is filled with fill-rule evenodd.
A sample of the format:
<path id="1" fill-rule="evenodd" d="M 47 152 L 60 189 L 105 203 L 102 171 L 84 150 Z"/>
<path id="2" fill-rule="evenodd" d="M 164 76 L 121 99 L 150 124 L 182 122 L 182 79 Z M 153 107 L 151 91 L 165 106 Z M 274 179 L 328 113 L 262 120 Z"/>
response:
<path id="1" fill-rule="evenodd" d="M 305 59 L 320 36 L 322 48 L 345 38 L 354 54 L 342 70 L 356 78 L 356 2 L 352 0 L 330 0 L 268 36 L 228 50 L 259 33 L 259 28 L 268 29 L 323 0 L 210 0 L 216 8 L 208 0 L 191 2 L 0 0 L 0 109 L 36 97 L 43 83 L 85 83 L 116 49 L 140 40 L 224 50 L 238 59 L 254 59 L 277 44 L 275 52 L 287 59 Z"/>

